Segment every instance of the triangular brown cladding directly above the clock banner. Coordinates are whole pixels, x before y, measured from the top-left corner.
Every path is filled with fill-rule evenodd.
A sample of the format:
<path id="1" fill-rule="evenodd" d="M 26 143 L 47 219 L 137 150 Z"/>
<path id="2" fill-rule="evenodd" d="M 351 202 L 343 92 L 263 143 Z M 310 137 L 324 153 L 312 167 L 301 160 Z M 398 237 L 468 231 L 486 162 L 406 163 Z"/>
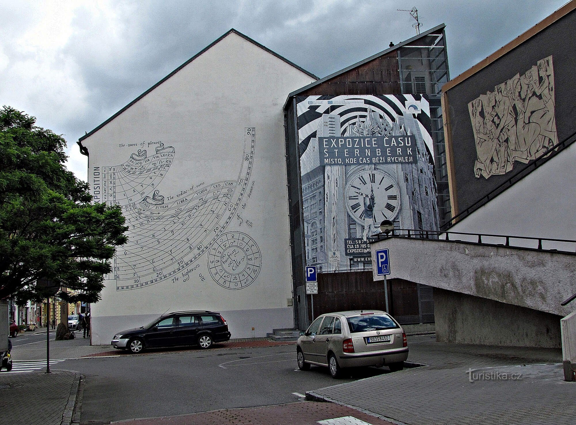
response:
<path id="1" fill-rule="evenodd" d="M 340 94 L 400 94 L 397 52 L 370 60 L 345 73 L 336 75 L 299 96 L 338 96 Z"/>

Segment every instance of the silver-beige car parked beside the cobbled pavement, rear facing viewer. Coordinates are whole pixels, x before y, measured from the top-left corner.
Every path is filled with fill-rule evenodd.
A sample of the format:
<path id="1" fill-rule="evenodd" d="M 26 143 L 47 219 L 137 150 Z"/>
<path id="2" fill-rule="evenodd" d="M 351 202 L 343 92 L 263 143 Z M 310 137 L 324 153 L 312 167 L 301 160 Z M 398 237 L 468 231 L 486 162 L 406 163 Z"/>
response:
<path id="1" fill-rule="evenodd" d="M 404 368 L 408 343 L 404 329 L 381 310 L 353 310 L 322 314 L 300 332 L 297 343 L 300 370 L 328 366 L 334 378 L 345 367 Z"/>

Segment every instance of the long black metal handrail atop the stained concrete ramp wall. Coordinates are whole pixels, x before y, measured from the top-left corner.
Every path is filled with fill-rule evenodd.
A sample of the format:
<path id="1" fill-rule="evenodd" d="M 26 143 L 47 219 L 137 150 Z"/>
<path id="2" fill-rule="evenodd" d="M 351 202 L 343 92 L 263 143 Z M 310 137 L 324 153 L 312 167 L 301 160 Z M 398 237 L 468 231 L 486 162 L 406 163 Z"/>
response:
<path id="1" fill-rule="evenodd" d="M 401 234 L 399 232 L 406 232 L 406 234 Z M 473 241 L 462 241 L 459 239 L 450 238 L 450 235 L 465 235 L 465 236 L 472 236 L 477 238 L 478 242 Z M 502 234 L 488 234 L 488 233 L 464 233 L 464 232 L 448 232 L 446 230 L 422 230 L 422 229 L 394 229 L 391 233 L 385 234 L 384 232 L 380 232 L 377 234 L 372 235 L 373 237 L 377 237 L 377 240 L 381 240 L 382 237 L 407 237 L 407 238 L 419 238 L 419 239 L 433 239 L 433 240 L 441 240 L 441 241 L 449 241 L 449 242 L 469 242 L 469 243 L 478 243 L 478 244 L 485 244 L 485 245 L 498 245 L 498 244 L 491 244 L 487 242 L 486 239 L 484 241 L 482 238 L 492 237 L 492 238 L 505 238 L 505 246 L 511 246 L 513 248 L 525 248 L 523 246 L 517 245 L 510 245 L 510 240 L 528 240 L 528 241 L 538 241 L 538 247 L 532 249 L 539 249 L 541 251 L 550 251 L 549 249 L 543 249 L 542 242 L 567 242 L 570 244 L 575 244 L 574 251 L 576 252 L 576 241 L 569 240 L 569 239 L 552 239 L 552 238 L 540 238 L 540 237 L 531 237 L 531 236 L 511 236 L 511 235 L 502 235 Z M 444 238 L 441 238 L 444 236 Z M 564 251 L 564 252 L 572 252 L 564 249 L 557 249 L 556 251 Z"/>

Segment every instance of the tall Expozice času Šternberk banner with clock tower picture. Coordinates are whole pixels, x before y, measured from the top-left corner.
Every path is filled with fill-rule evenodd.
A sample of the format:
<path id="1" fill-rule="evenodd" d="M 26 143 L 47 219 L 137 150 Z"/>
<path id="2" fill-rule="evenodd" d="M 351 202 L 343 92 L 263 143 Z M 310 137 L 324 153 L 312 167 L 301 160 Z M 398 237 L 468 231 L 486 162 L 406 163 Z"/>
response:
<path id="1" fill-rule="evenodd" d="M 298 96 L 306 264 L 369 270 L 370 237 L 439 228 L 424 95 Z"/>

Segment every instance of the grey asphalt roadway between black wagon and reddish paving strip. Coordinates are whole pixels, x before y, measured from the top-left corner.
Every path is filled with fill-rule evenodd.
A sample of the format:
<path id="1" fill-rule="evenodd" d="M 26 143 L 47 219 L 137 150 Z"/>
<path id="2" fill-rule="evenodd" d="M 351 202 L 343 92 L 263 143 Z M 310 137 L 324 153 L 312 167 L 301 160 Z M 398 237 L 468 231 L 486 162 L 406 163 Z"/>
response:
<path id="1" fill-rule="evenodd" d="M 71 359 L 57 369 L 86 377 L 83 425 L 291 403 L 308 390 L 389 373 L 355 370 L 335 381 L 322 367 L 300 371 L 295 346 Z"/>

